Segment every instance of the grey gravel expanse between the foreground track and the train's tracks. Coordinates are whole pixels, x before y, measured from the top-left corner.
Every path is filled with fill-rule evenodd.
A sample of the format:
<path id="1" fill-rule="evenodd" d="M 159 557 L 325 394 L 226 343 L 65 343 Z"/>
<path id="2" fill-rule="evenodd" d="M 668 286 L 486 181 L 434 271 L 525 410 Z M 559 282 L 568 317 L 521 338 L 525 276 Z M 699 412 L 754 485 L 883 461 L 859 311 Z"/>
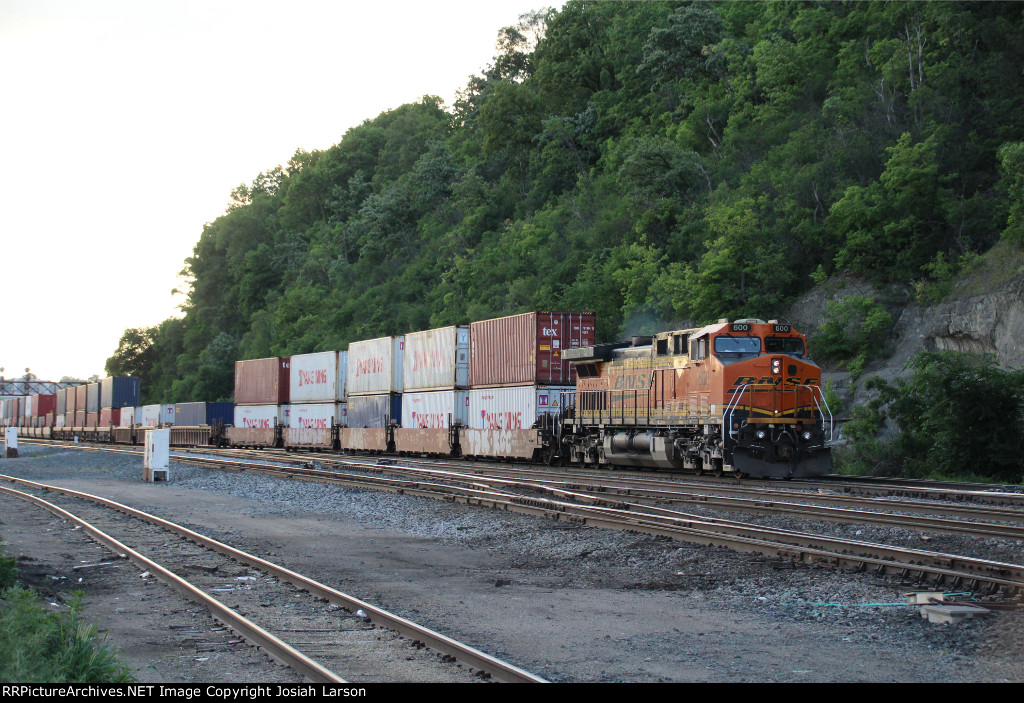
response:
<path id="1" fill-rule="evenodd" d="M 173 463 L 146 484 L 138 456 L 19 449 L 0 474 L 166 516 L 554 682 L 1024 680 L 1022 611 L 932 624 L 893 576 Z M 1014 540 L 684 512 L 1024 561 Z"/>

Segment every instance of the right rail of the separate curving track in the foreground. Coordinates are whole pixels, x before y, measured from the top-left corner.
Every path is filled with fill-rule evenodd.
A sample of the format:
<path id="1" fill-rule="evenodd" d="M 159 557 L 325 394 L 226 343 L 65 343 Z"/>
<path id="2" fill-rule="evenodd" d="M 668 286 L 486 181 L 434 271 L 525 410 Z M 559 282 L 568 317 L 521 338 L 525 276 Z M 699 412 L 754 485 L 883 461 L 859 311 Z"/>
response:
<path id="1" fill-rule="evenodd" d="M 269 468 L 269 467 L 267 467 Z M 279 467 L 280 469 L 280 467 Z M 532 674 L 524 669 L 520 669 L 508 662 L 502 661 L 497 657 L 493 657 L 489 654 L 481 652 L 469 645 L 465 645 L 456 640 L 453 640 L 440 632 L 431 630 L 423 625 L 419 625 L 411 620 L 407 620 L 398 615 L 389 613 L 382 608 L 378 608 L 370 603 L 360 601 L 352 596 L 343 594 L 340 590 L 331 588 L 328 585 L 314 581 L 313 579 L 307 578 L 301 574 L 298 574 L 290 569 L 287 569 L 272 562 L 268 562 L 260 557 L 248 554 L 241 550 L 237 550 L 232 546 L 224 544 L 223 542 L 217 541 L 211 537 L 194 532 L 186 527 L 177 525 L 163 518 L 159 518 L 155 515 L 144 513 L 143 511 L 130 508 L 120 502 L 110 500 L 97 495 L 92 495 L 90 493 L 83 493 L 81 491 L 75 491 L 70 488 L 61 488 L 59 486 L 50 486 L 41 483 L 36 483 L 34 481 L 28 481 L 26 479 L 19 479 L 12 476 L 2 476 L 0 479 L 11 481 L 16 484 L 32 486 L 39 490 L 50 490 L 65 495 L 70 495 L 77 498 L 82 498 L 85 500 L 90 500 L 92 502 L 112 508 L 114 510 L 120 511 L 131 517 L 144 520 L 151 524 L 159 525 L 164 529 L 174 532 L 186 539 L 189 539 L 202 546 L 210 548 L 214 552 L 222 554 L 226 557 L 234 559 L 236 561 L 251 566 L 260 571 L 264 571 L 273 575 L 274 577 L 291 583 L 300 588 L 308 590 L 310 594 L 322 598 L 335 605 L 340 605 L 348 610 L 356 611 L 362 610 L 370 620 L 378 625 L 387 627 L 389 629 L 395 630 L 404 636 L 408 636 L 415 642 L 419 642 L 426 645 L 430 649 L 440 652 L 451 656 L 458 661 L 463 662 L 467 666 L 471 666 L 479 671 L 485 671 L 493 678 L 500 682 L 507 683 L 546 683 L 546 680 L 536 674 Z M 8 489 L 9 490 L 9 489 Z M 59 509 L 57 509 L 59 510 Z"/>

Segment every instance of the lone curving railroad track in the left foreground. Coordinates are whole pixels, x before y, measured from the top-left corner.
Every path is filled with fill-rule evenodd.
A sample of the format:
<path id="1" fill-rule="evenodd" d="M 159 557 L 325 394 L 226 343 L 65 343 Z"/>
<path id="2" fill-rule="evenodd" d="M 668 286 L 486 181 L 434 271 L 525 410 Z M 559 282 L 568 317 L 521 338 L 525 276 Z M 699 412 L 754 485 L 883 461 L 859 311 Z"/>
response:
<path id="1" fill-rule="evenodd" d="M 543 680 L 475 648 L 156 516 L 87 493 L 9 476 L 0 480 L 17 486 L 0 485 L 3 492 L 81 525 L 100 543 L 127 556 L 178 594 L 202 603 L 247 642 L 311 682 Z M 49 499 L 44 500 L 43 494 Z M 171 535 L 178 538 L 169 539 Z M 239 564 L 249 568 L 245 575 L 238 575 Z M 187 573 L 187 578 L 182 573 Z M 331 605 L 325 607 L 325 603 Z M 252 613 L 258 613 L 258 618 Z M 344 672 L 345 677 L 337 672 Z"/>

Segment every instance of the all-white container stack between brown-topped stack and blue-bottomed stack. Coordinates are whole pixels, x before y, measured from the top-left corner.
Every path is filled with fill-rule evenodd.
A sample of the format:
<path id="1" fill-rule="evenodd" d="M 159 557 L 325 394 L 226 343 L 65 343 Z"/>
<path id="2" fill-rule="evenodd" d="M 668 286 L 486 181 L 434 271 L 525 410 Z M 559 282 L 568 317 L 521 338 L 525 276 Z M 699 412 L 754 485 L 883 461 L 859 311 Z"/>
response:
<path id="1" fill-rule="evenodd" d="M 330 449 L 334 429 L 346 424 L 348 352 L 328 351 L 292 357 L 286 447 Z"/>

